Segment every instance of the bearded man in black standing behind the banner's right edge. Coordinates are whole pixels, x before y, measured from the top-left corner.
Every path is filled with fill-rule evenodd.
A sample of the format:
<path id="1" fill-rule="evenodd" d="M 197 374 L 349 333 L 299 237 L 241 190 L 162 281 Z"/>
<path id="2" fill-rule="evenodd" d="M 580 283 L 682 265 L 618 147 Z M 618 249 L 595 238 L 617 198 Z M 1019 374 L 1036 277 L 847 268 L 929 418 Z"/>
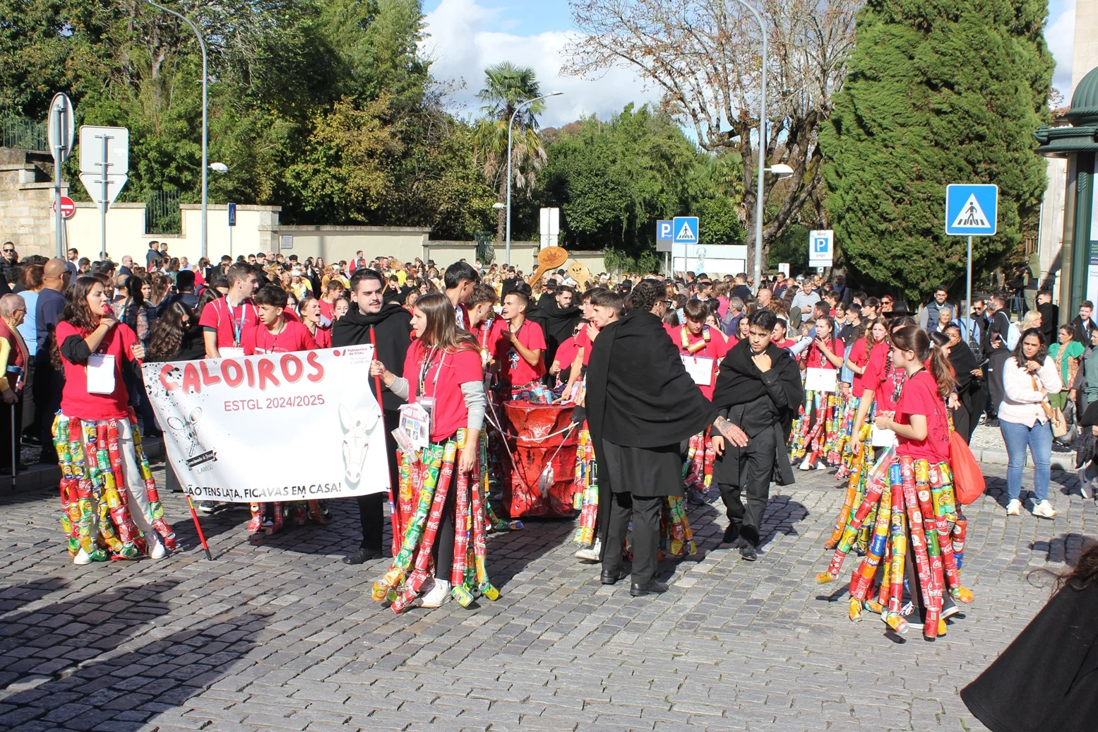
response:
<path id="1" fill-rule="evenodd" d="M 393 373 L 404 373 L 404 356 L 412 344 L 412 314 L 396 302 L 385 303 L 382 295 L 385 280 L 376 269 L 358 267 L 350 278 L 352 307 L 347 314 L 332 326 L 332 346 L 339 348 L 351 345 L 374 346 L 373 357 Z M 389 389 L 382 389 L 377 379 L 369 379 L 363 388 L 372 388 L 381 406 L 385 425 L 385 452 L 396 452 L 396 440 L 392 432 L 400 422 L 400 406 L 403 400 Z M 395 493 L 397 466 L 389 461 L 390 490 Z M 362 564 L 384 556 L 381 551 L 384 530 L 384 493 L 367 493 L 358 497 L 359 521 L 362 540 L 359 547 L 344 557 L 344 564 Z M 392 501 L 391 501 L 392 504 Z"/>

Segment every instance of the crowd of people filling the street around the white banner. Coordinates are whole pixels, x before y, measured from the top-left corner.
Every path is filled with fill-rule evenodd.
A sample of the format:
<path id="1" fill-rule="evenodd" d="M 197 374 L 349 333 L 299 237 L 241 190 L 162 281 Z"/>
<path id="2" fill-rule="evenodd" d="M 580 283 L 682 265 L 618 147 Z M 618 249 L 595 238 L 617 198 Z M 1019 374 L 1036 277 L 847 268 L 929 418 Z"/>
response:
<path id="1" fill-rule="evenodd" d="M 163 557 L 175 545 L 141 450 L 141 434 L 159 425 L 136 364 L 373 345 L 362 385 L 384 422 L 393 542 L 382 545 L 385 496 L 362 496 L 360 545 L 344 561 L 390 557 L 374 597 L 401 607 L 494 591 L 483 535 L 507 525 L 488 496 L 507 470 L 507 401 L 573 409 L 585 445 L 576 556 L 601 563 L 605 584 L 631 574 L 638 596 L 666 589 L 656 577 L 661 553 L 693 550 L 683 501 L 707 502 L 713 487 L 729 519 L 724 542 L 755 561 L 771 483 L 792 483 L 797 468 L 837 468 L 848 506 L 827 548 L 872 558 L 872 532 L 840 541 L 865 521 L 854 514 L 872 492 L 867 475 L 901 461 L 912 475 L 927 466 L 948 475 L 949 435 L 967 442 L 981 422 L 998 424 L 1010 455 L 1007 513 L 1020 512 L 1028 448 L 1031 510 L 1052 518 L 1053 428 L 1065 408 L 1083 423 L 1098 403 L 1093 307 L 1057 329 L 1047 292 L 1018 325 L 1006 296 L 976 299 L 961 318 L 939 288 L 911 312 L 841 276 L 575 281 L 560 269 L 527 282 L 513 266 L 362 252 L 332 264 L 267 253 L 192 264 L 157 242 L 144 265 L 76 249 L 20 259 L 8 243 L 3 274 L 0 434 L 12 450 L 0 451 L 0 467 L 19 468 L 22 441 L 60 464 L 78 564 Z M 394 431 L 416 423 L 427 444 L 402 448 Z M 170 469 L 168 484 L 178 489 Z M 253 503 L 248 530 L 272 533 L 291 513 L 323 522 L 327 512 L 315 501 Z M 960 510 L 941 518 L 964 522 Z M 963 589 L 955 579 L 949 589 Z M 942 592 L 912 600 L 921 612 L 935 601 L 939 615 L 948 611 Z"/>

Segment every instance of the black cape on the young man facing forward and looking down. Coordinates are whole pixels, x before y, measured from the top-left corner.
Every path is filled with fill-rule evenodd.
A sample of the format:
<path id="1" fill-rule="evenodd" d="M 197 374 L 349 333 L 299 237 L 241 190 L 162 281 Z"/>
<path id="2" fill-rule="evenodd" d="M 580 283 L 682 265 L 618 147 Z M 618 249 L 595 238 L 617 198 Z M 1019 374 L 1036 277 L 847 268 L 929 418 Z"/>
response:
<path id="1" fill-rule="evenodd" d="M 713 392 L 713 406 L 720 413 L 729 414 L 733 413 L 737 407 L 750 404 L 764 397 L 771 399 L 777 412 L 777 420 L 772 426 L 775 481 L 780 486 L 788 486 L 794 483 L 794 478 L 786 445 L 797 410 L 805 399 L 805 389 L 800 384 L 800 368 L 788 351 L 771 343 L 766 346 L 766 354 L 770 356 L 771 367 L 763 374 L 751 359 L 751 344 L 747 339 L 732 346 L 720 362 L 717 386 Z M 738 422 L 737 419 L 731 421 Z M 717 476 L 719 470 L 717 479 L 720 483 L 740 485 L 739 456 L 739 447 L 726 445 L 725 454 L 718 461 L 720 465 L 714 465 L 714 475 Z"/>

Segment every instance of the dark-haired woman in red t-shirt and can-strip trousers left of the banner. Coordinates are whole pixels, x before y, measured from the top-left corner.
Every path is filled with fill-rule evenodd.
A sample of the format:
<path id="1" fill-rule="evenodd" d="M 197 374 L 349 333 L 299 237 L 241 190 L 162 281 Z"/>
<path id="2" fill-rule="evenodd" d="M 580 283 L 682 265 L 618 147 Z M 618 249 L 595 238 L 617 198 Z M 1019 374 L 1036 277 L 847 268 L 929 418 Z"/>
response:
<path id="1" fill-rule="evenodd" d="M 65 370 L 65 387 L 54 437 L 64 423 L 71 457 L 63 465 L 61 497 L 67 503 L 66 515 L 74 523 L 69 534 L 72 561 L 89 564 L 107 559 L 101 543 L 113 556 L 135 558 L 143 534 L 148 555 L 163 558 L 166 546 L 175 546 L 175 534 L 163 518 L 156 518 L 155 511 L 161 510 L 159 497 L 145 484 L 138 467 L 143 457 L 134 442 L 136 419 L 123 376 L 124 369 L 136 367 L 145 357 L 145 348 L 128 325 L 114 320 L 110 298 L 94 277 L 76 280 L 56 336 L 53 362 L 55 368 Z M 117 455 L 112 454 L 115 442 Z M 71 447 L 76 444 L 80 446 Z M 121 485 L 112 487 L 102 474 L 92 477 L 88 472 L 100 450 L 108 452 L 112 470 L 121 470 Z M 77 461 L 80 451 L 82 462 Z M 65 477 L 77 467 L 90 479 L 78 483 Z M 120 493 L 116 498 L 111 495 L 114 489 Z M 115 508 L 104 506 L 101 510 L 103 502 L 115 503 Z"/>

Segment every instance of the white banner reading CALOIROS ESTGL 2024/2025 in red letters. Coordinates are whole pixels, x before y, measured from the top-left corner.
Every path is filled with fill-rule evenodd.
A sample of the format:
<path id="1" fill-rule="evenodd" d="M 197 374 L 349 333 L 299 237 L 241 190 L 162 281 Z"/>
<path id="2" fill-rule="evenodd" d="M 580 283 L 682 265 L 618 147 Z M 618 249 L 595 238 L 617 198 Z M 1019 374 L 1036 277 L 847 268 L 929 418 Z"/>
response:
<path id="1" fill-rule="evenodd" d="M 168 461 L 200 500 L 343 498 L 389 488 L 373 346 L 149 363 Z"/>

